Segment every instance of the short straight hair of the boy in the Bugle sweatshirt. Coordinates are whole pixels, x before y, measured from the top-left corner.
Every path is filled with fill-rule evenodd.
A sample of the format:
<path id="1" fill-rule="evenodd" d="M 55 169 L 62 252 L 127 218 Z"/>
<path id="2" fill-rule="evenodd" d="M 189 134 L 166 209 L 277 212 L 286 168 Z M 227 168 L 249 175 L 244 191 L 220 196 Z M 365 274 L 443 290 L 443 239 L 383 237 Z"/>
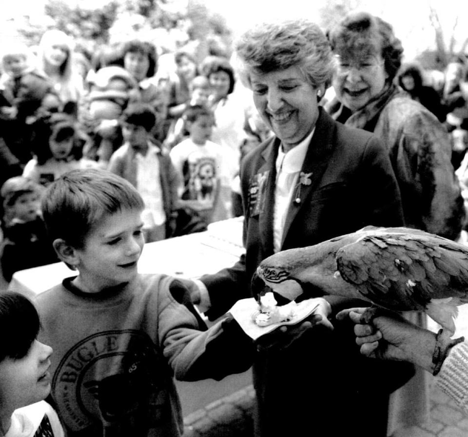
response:
<path id="1" fill-rule="evenodd" d="M 126 209 L 144 209 L 143 199 L 127 180 L 106 170 L 73 170 L 46 190 L 41 210 L 52 241 L 60 238 L 84 247 L 88 233 L 104 217 Z"/>

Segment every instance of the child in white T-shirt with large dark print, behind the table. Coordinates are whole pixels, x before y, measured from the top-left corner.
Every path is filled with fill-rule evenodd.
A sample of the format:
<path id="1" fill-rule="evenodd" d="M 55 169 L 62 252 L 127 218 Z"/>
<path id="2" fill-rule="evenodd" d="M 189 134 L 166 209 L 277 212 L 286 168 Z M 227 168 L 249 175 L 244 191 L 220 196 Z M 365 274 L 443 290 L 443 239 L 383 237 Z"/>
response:
<path id="1" fill-rule="evenodd" d="M 229 218 L 229 207 L 220 193 L 229 187 L 234 174 L 229 172 L 234 153 L 210 141 L 215 117 L 206 106 L 188 107 L 183 118 L 190 137 L 170 152 L 183 185 L 179 187 L 181 204 L 199 213 L 207 224 Z M 230 201 L 230 199 L 229 199 Z"/>

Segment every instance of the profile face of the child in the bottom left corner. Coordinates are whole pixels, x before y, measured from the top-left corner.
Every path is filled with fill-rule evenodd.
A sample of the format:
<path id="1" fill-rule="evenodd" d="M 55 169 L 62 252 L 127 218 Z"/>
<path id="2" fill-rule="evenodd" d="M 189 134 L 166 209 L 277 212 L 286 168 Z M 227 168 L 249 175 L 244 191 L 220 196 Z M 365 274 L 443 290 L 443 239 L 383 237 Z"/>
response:
<path id="1" fill-rule="evenodd" d="M 0 362 L 0 405 L 20 408 L 45 399 L 50 392 L 52 348 L 35 340 L 19 360 Z"/>

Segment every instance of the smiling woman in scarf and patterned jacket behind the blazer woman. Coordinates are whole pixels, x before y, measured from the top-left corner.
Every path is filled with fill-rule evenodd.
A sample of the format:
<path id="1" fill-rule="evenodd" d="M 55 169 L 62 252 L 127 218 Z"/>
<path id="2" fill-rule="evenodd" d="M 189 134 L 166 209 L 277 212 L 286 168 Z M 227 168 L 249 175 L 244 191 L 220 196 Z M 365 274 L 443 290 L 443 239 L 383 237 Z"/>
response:
<path id="1" fill-rule="evenodd" d="M 386 21 L 352 13 L 329 32 L 337 60 L 333 117 L 365 129 L 386 146 L 400 187 L 405 223 L 456 239 L 463 199 L 450 162 L 448 133 L 419 102 L 394 85 L 403 47 Z"/>

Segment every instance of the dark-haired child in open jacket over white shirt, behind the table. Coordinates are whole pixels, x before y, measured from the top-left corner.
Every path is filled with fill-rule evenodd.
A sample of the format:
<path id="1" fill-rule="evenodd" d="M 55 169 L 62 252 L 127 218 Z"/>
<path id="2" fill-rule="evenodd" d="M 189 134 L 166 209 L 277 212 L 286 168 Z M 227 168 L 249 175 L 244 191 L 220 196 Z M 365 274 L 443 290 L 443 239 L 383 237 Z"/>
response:
<path id="1" fill-rule="evenodd" d="M 152 142 L 156 113 L 149 105 L 133 103 L 120 122 L 124 144 L 112 154 L 108 170 L 131 182 L 142 196 L 145 241 L 163 240 L 173 227 L 178 181 L 169 156 Z"/>

